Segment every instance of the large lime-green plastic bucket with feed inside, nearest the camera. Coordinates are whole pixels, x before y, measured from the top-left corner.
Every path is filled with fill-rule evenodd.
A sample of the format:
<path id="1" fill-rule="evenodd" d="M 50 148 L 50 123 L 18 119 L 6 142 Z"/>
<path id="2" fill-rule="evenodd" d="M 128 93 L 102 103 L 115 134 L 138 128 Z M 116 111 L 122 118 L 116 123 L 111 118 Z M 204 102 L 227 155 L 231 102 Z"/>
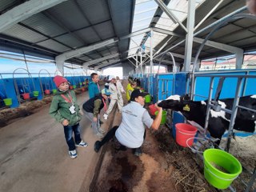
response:
<path id="1" fill-rule="evenodd" d="M 204 175 L 210 185 L 224 190 L 242 172 L 241 163 L 223 150 L 208 149 L 203 153 Z"/>

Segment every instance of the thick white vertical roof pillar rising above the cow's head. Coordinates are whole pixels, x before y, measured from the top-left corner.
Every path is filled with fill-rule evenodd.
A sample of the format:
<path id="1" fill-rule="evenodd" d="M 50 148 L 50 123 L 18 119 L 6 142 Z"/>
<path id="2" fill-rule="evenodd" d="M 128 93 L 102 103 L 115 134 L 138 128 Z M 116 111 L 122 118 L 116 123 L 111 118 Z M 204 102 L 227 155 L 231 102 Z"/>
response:
<path id="1" fill-rule="evenodd" d="M 186 46 L 183 71 L 190 71 L 190 62 L 192 57 L 193 36 L 194 36 L 194 13 L 195 0 L 188 1 L 188 15 L 186 23 Z"/>

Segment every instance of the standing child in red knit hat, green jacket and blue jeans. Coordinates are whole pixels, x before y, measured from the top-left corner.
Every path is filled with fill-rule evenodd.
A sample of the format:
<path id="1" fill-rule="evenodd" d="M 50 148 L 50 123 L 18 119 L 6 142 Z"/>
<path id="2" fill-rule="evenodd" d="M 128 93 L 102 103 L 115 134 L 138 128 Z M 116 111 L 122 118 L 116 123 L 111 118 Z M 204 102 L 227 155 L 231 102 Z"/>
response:
<path id="1" fill-rule="evenodd" d="M 79 122 L 82 118 L 82 114 L 79 112 L 80 108 L 74 91 L 69 90 L 70 84 L 67 79 L 57 75 L 54 77 L 54 83 L 56 87 L 58 87 L 58 91 L 51 102 L 49 114 L 55 118 L 56 121 L 62 123 L 66 143 L 69 147 L 70 158 L 76 158 L 78 154 L 75 147 L 88 146 L 80 137 Z"/>

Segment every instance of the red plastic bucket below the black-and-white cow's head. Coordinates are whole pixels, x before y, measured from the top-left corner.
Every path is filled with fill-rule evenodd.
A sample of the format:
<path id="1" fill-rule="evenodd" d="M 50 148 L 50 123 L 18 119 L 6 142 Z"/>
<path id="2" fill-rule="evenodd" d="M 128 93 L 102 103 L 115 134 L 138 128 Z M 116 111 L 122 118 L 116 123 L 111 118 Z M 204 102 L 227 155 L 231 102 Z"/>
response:
<path id="1" fill-rule="evenodd" d="M 186 140 L 189 138 L 194 138 L 195 134 L 197 133 L 198 129 L 195 126 L 191 126 L 186 123 L 177 123 L 176 127 L 176 142 L 180 146 L 187 147 Z M 190 139 L 187 142 L 188 146 L 192 146 L 194 140 Z"/>

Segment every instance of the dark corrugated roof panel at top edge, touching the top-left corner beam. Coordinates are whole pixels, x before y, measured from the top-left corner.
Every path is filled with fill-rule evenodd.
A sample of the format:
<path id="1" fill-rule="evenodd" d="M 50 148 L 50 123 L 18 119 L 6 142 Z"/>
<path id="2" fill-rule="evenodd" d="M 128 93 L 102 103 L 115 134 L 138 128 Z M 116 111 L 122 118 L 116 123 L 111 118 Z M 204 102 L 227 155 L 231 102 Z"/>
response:
<path id="1" fill-rule="evenodd" d="M 51 7 L 47 12 L 54 15 L 54 18 L 61 21 L 70 30 L 78 30 L 82 27 L 90 26 L 90 23 L 86 20 L 81 11 L 78 10 L 74 1 L 62 2 L 58 4 L 58 6 Z"/>

